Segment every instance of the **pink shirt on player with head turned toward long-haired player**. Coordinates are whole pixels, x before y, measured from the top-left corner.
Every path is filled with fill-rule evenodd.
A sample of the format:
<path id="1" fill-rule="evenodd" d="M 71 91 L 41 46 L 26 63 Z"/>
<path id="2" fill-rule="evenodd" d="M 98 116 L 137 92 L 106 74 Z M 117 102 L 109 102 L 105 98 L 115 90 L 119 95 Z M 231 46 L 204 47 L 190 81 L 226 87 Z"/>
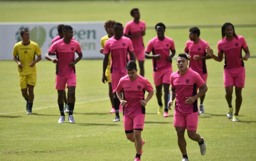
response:
<path id="1" fill-rule="evenodd" d="M 200 75 L 207 73 L 206 60 L 194 60 L 193 56 L 206 56 L 205 48 L 209 46 L 206 41 L 200 39 L 200 41 L 195 44 L 194 41 L 187 41 L 186 47 L 184 49 L 185 52 L 189 52 L 191 59 L 189 60 L 189 68 L 193 71 L 198 72 Z"/>

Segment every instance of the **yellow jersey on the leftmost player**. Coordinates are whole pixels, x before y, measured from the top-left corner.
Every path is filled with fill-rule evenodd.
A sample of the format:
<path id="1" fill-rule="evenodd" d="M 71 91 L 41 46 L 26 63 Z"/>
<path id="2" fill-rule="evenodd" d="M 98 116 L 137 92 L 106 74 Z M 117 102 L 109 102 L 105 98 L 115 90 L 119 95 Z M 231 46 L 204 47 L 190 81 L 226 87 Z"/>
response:
<path id="1" fill-rule="evenodd" d="M 30 40 L 28 45 L 23 45 L 22 41 L 19 41 L 14 45 L 12 52 L 13 56 L 18 56 L 19 62 L 23 65 L 23 68 L 19 68 L 19 75 L 30 75 L 37 72 L 36 65 L 30 67 L 28 64 L 35 60 L 35 55 L 41 55 L 41 49 L 38 44 Z"/>

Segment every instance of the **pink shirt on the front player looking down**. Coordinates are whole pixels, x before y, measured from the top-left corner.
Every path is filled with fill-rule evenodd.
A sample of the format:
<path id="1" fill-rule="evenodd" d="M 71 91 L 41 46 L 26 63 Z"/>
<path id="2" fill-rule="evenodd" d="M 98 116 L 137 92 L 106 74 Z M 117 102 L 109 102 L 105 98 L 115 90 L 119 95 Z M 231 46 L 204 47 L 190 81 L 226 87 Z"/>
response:
<path id="1" fill-rule="evenodd" d="M 131 81 L 129 76 L 122 77 L 117 85 L 117 92 L 123 92 L 123 98 L 127 101 L 124 106 L 125 116 L 137 116 L 139 114 L 145 114 L 145 107 L 141 105 L 140 101 L 145 100 L 145 92 L 153 91 L 153 87 L 150 82 L 141 75 Z"/>

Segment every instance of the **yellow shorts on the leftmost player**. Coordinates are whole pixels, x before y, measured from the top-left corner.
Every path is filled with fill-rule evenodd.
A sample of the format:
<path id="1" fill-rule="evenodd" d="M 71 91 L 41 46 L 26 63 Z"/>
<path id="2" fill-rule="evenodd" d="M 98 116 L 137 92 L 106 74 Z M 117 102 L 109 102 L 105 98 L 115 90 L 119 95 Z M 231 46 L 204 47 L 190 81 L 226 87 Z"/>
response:
<path id="1" fill-rule="evenodd" d="M 21 89 L 27 88 L 27 85 L 35 86 L 37 80 L 37 74 L 19 75 L 19 86 Z"/>

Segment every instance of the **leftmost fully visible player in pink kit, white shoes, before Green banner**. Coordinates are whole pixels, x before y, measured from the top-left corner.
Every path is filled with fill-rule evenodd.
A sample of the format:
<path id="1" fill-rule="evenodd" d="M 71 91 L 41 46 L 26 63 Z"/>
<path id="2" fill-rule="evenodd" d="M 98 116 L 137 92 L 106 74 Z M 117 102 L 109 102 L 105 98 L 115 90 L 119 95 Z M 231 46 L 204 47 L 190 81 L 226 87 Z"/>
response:
<path id="1" fill-rule="evenodd" d="M 64 38 L 53 43 L 50 46 L 48 53 L 45 54 L 45 59 L 56 63 L 56 85 L 55 88 L 58 90 L 58 105 L 60 109 L 60 119 L 58 123 L 63 123 L 65 120 L 64 115 L 64 101 L 63 94 L 68 84 L 69 90 L 69 116 L 68 120 L 70 123 L 75 123 L 73 117 L 73 110 L 75 106 L 75 86 L 76 86 L 76 75 L 75 75 L 75 64 L 81 60 L 83 54 L 79 43 L 73 40 L 73 28 L 65 25 L 62 28 Z M 56 52 L 56 58 L 51 57 Z M 78 56 L 75 58 L 75 52 Z M 75 60 L 74 60 L 75 58 Z"/>

